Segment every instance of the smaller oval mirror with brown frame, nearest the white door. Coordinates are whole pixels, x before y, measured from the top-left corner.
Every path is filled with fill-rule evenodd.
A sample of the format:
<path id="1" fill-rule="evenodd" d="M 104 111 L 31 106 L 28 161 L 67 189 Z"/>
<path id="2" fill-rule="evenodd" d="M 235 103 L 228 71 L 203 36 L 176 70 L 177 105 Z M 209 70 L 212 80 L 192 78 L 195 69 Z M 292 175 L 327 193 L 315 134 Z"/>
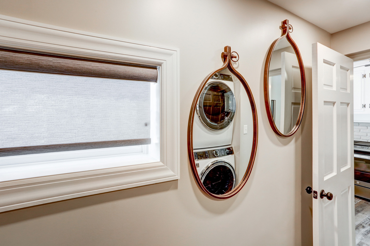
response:
<path id="1" fill-rule="evenodd" d="M 305 108 L 305 69 L 299 49 L 290 37 L 292 25 L 285 20 L 283 33 L 270 46 L 264 74 L 265 106 L 270 125 L 279 136 L 292 136 Z"/>

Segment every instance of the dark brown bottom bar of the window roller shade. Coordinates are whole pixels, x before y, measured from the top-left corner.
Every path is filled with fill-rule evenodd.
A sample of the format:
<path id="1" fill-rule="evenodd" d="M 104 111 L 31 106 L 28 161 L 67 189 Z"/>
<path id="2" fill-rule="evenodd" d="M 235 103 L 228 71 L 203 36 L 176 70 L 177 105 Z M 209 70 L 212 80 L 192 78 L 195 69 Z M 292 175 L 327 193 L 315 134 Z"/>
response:
<path id="1" fill-rule="evenodd" d="M 40 146 L 0 148 L 0 157 L 61 152 L 61 151 L 72 151 L 72 150 L 91 150 L 94 148 L 134 146 L 134 145 L 150 144 L 150 142 L 151 142 L 150 139 L 127 139 L 127 140 L 115 140 L 115 141 L 88 142 L 88 143 L 50 144 L 50 145 L 40 145 Z"/>

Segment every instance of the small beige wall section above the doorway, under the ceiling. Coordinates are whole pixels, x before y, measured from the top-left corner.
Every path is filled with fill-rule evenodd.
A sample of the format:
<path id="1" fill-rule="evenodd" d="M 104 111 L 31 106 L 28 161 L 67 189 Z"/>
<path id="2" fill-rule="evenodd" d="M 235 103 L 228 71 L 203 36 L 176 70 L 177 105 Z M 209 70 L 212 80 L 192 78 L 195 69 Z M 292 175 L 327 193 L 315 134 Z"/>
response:
<path id="1" fill-rule="evenodd" d="M 369 52 L 370 21 L 332 34 L 332 49 L 344 55 Z M 365 58 L 363 58 L 365 59 Z"/>

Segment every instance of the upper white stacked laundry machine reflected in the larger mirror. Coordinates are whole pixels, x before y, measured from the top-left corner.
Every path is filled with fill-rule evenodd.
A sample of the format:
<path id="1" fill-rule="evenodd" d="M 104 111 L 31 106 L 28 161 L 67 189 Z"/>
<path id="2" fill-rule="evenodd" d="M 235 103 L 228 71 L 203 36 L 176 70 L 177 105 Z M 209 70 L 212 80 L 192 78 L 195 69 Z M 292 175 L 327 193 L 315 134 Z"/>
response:
<path id="1" fill-rule="evenodd" d="M 231 144 L 236 102 L 231 75 L 214 74 L 206 83 L 196 105 L 193 148 Z"/>

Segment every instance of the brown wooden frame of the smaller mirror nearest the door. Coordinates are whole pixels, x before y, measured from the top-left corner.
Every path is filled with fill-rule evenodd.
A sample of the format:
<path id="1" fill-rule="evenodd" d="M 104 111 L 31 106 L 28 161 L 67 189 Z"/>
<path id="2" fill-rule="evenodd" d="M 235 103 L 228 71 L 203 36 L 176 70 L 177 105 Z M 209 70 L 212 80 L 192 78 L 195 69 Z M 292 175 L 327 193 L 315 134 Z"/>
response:
<path id="1" fill-rule="evenodd" d="M 264 88 L 264 91 L 265 91 L 266 112 L 267 112 L 267 116 L 269 118 L 269 122 L 270 122 L 270 126 L 272 127 L 272 130 L 275 131 L 275 133 L 279 136 L 290 137 L 298 130 L 299 125 L 302 122 L 303 111 L 305 109 L 305 100 L 306 100 L 306 77 L 305 77 L 305 67 L 303 66 L 303 61 L 302 61 L 302 57 L 300 55 L 299 49 L 298 49 L 296 43 L 292 40 L 292 37 L 290 37 L 290 35 L 289 35 L 289 33 L 290 33 L 289 30 L 292 29 L 292 31 L 293 31 L 292 25 L 289 25 L 288 20 L 284 20 L 281 27 L 282 27 L 282 30 L 283 30 L 282 35 L 281 35 L 280 38 L 277 38 L 275 41 L 273 41 L 273 43 L 270 46 L 267 57 L 266 57 L 265 74 L 263 76 L 263 82 L 264 82 L 263 88 Z M 272 113 L 271 113 L 270 97 L 269 97 L 269 68 L 270 68 L 270 61 L 271 61 L 272 52 L 273 52 L 275 46 L 277 45 L 277 43 L 279 42 L 279 40 L 281 40 L 282 38 L 285 38 L 285 37 L 289 41 L 290 45 L 292 45 L 294 51 L 296 52 L 296 56 L 297 56 L 298 63 L 299 63 L 300 75 L 301 75 L 301 83 L 302 83 L 302 93 L 301 93 L 301 102 L 300 102 L 298 119 L 297 119 L 297 122 L 296 122 L 295 126 L 287 134 L 283 134 L 282 132 L 280 132 L 279 129 L 277 129 L 277 127 L 275 125 L 275 122 L 273 120 Z"/>

